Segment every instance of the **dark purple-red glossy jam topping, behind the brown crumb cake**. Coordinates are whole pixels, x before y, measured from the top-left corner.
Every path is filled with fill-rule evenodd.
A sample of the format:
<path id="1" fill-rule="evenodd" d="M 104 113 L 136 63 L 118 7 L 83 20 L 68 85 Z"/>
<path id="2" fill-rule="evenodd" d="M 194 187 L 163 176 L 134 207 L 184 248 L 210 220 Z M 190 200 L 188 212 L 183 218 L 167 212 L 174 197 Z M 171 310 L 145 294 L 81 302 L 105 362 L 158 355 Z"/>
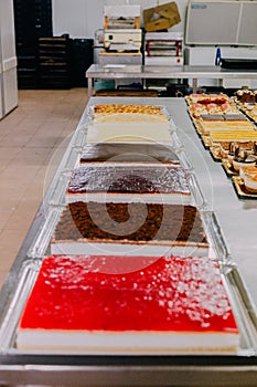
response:
<path id="1" fill-rule="evenodd" d="M 69 194 L 184 194 L 190 195 L 184 169 L 175 166 L 93 165 L 73 171 Z"/>

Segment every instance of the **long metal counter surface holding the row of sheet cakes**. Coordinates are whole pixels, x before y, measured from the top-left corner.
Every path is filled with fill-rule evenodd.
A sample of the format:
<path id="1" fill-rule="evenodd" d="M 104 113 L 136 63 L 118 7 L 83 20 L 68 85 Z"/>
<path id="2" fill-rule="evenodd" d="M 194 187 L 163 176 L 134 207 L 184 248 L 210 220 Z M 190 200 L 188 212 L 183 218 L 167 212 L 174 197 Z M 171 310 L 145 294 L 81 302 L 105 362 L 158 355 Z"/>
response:
<path id="1" fill-rule="evenodd" d="M 249 316 L 255 321 L 257 200 L 238 200 L 222 166 L 212 159 L 201 144 L 186 113 L 186 104 L 183 98 L 94 97 L 90 98 L 88 106 L 96 103 L 121 102 L 167 106 L 178 125 L 178 135 L 192 161 L 204 197 L 217 216 L 231 259 L 238 268 L 232 282 L 236 287 L 238 281 L 243 280 L 240 296 L 245 304 L 249 305 Z M 87 109 L 74 133 L 52 186 L 60 179 L 63 166 L 71 158 L 71 153 L 76 153 L 74 143 L 78 145 L 82 140 L 78 129 L 86 123 Z M 35 232 L 41 229 L 45 220 L 47 200 L 49 192 L 45 195 L 44 202 L 0 293 L 0 324 L 7 314 L 12 314 L 10 305 L 19 285 L 19 272 L 28 260 L 26 251 Z M 257 380 L 256 352 L 246 356 L 76 356 L 22 355 L 8 352 L 6 348 L 0 349 L 0 385 L 228 387 L 256 386 Z"/>

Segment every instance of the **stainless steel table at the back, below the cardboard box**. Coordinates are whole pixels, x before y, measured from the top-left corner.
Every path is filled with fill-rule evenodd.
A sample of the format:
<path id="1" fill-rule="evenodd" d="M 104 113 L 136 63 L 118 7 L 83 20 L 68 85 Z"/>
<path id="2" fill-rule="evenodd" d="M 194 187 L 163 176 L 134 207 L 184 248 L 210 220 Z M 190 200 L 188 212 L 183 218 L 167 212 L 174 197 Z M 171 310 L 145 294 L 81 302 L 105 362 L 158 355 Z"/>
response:
<path id="1" fill-rule="evenodd" d="M 192 79 L 193 93 L 197 91 L 199 79 L 210 80 L 228 80 L 228 79 L 257 79 L 257 71 L 235 71 L 226 70 L 219 66 L 193 66 L 193 65 L 105 65 L 93 64 L 86 71 L 86 77 L 88 82 L 88 95 L 93 95 L 94 80 L 120 80 L 120 79 L 179 79 L 188 80 Z"/>

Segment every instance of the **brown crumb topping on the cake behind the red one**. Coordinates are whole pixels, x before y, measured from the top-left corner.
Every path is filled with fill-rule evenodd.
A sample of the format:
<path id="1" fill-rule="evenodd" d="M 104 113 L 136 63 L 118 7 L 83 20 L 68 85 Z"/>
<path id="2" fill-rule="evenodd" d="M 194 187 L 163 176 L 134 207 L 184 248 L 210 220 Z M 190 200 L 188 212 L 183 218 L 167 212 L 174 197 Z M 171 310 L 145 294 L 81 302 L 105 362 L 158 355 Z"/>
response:
<path id="1" fill-rule="evenodd" d="M 182 205 L 72 202 L 65 207 L 52 242 L 82 239 L 208 245 L 199 210 Z"/>

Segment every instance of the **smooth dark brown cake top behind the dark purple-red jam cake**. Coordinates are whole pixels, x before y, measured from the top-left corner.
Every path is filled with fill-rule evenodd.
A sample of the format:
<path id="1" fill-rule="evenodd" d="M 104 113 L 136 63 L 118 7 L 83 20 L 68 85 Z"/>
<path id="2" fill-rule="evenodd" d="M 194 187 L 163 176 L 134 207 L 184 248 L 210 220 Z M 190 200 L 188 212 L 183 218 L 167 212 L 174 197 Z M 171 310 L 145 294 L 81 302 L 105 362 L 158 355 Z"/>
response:
<path id="1" fill-rule="evenodd" d="M 172 147 L 161 144 L 111 144 L 86 145 L 81 163 L 172 163 L 179 158 Z"/>

